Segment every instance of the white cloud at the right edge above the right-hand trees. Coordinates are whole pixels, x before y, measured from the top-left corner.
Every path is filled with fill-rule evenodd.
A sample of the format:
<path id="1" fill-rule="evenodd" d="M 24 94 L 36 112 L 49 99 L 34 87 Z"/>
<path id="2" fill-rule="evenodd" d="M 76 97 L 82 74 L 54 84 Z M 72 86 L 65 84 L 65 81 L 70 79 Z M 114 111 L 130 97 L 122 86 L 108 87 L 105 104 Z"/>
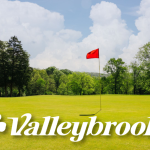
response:
<path id="1" fill-rule="evenodd" d="M 150 41 L 150 1 L 142 0 L 137 13 L 139 17 L 136 19 L 135 25 L 139 32 L 137 35 L 130 36 L 129 45 L 123 48 L 123 54 L 120 55 L 128 64 L 134 60 L 139 48 Z"/>

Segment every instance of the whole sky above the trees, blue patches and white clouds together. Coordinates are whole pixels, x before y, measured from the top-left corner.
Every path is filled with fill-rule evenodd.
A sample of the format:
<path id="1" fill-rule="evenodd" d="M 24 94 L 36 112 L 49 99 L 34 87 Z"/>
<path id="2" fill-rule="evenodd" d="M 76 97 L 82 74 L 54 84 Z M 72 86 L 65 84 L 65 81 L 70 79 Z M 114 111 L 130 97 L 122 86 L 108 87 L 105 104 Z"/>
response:
<path id="1" fill-rule="evenodd" d="M 0 0 L 0 40 L 16 35 L 30 65 L 101 72 L 110 58 L 130 64 L 150 41 L 150 0 Z"/>

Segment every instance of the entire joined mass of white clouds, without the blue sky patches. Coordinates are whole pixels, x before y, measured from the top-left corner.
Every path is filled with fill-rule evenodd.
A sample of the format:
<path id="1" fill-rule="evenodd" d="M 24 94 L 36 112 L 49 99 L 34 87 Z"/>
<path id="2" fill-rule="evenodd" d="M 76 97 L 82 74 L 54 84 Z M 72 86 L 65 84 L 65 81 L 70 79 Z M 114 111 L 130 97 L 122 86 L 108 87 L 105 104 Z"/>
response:
<path id="1" fill-rule="evenodd" d="M 120 55 L 126 62 L 130 61 L 150 36 L 147 0 L 141 2 L 141 16 L 136 20 L 138 35 L 127 29 L 117 5 L 102 1 L 91 7 L 91 34 L 80 42 L 81 32 L 65 29 L 64 17 L 57 12 L 29 2 L 0 0 L 0 3 L 0 39 L 8 40 L 17 35 L 23 48 L 32 56 L 32 67 L 56 66 L 73 71 L 98 72 L 98 60 L 86 60 L 85 57 L 89 51 L 99 48 L 102 71 L 112 57 Z"/>

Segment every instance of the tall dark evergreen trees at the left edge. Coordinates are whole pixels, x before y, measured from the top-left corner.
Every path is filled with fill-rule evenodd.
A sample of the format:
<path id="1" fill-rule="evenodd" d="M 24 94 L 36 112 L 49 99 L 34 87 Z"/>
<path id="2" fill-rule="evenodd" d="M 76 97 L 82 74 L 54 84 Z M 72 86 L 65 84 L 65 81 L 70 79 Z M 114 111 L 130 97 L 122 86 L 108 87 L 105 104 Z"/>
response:
<path id="1" fill-rule="evenodd" d="M 0 95 L 20 96 L 28 86 L 31 72 L 29 55 L 21 41 L 15 36 L 9 42 L 0 41 Z"/>

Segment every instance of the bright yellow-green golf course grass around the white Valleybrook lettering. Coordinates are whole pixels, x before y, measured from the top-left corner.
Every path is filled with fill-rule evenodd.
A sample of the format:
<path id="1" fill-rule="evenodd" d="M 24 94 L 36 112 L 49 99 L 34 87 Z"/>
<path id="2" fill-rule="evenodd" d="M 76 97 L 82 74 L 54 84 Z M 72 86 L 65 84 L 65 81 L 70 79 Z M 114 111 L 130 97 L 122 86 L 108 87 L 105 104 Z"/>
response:
<path id="1" fill-rule="evenodd" d="M 79 114 L 91 114 L 99 110 L 99 96 L 30 96 L 18 98 L 0 98 L 0 114 L 7 123 L 7 130 L 0 133 L 1 150 L 148 150 L 150 137 L 133 136 L 130 133 L 118 136 L 112 128 L 111 136 L 85 136 L 81 142 L 70 141 L 68 136 L 11 136 L 11 120 L 7 117 L 21 117 L 31 113 L 33 121 L 41 125 L 46 116 L 60 116 L 61 122 L 90 122 L 89 117 Z M 97 121 L 127 121 L 131 125 L 143 121 L 147 125 L 150 117 L 150 96 L 102 95 L 102 111 Z M 20 118 L 21 119 L 21 118 Z"/>

